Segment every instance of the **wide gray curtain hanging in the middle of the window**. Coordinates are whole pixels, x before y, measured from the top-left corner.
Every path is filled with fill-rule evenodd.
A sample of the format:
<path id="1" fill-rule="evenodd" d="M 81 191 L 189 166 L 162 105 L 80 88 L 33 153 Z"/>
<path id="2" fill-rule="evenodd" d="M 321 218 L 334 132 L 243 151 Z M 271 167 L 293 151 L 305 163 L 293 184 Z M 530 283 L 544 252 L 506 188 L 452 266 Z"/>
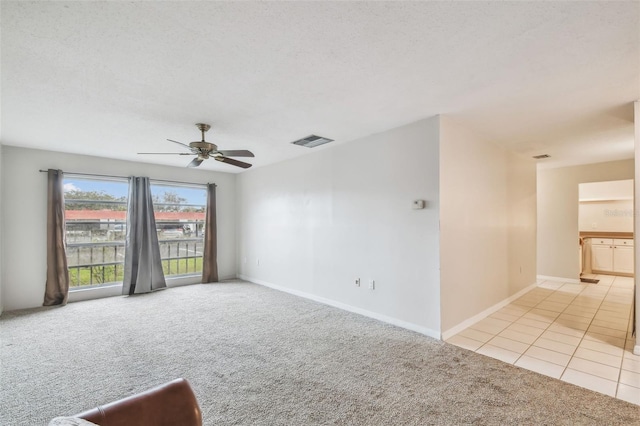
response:
<path id="1" fill-rule="evenodd" d="M 149 178 L 132 177 L 129 183 L 122 294 L 148 293 L 166 286 Z"/>

